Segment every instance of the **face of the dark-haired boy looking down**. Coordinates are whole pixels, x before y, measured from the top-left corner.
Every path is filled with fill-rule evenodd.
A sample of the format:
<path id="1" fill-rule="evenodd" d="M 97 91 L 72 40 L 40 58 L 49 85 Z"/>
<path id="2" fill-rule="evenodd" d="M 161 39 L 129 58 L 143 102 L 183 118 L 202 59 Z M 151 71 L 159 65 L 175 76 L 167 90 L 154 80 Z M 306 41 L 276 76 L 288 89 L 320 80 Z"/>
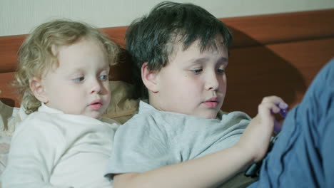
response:
<path id="1" fill-rule="evenodd" d="M 158 92 L 150 103 L 158 110 L 216 118 L 226 94 L 225 69 L 228 50 L 221 43 L 217 49 L 201 52 L 198 41 L 186 51 L 182 45 L 169 63 L 156 74 Z"/>

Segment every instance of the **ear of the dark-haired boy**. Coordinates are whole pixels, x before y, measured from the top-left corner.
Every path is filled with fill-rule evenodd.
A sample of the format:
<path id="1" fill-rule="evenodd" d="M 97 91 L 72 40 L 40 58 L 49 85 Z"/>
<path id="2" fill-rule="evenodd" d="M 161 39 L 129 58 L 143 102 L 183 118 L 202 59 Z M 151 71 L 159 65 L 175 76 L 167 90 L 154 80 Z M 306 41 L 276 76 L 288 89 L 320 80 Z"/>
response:
<path id="1" fill-rule="evenodd" d="M 143 63 L 143 65 L 141 66 L 141 79 L 143 80 L 143 83 L 149 91 L 153 93 L 158 92 L 156 71 L 149 70 L 147 63 Z"/>

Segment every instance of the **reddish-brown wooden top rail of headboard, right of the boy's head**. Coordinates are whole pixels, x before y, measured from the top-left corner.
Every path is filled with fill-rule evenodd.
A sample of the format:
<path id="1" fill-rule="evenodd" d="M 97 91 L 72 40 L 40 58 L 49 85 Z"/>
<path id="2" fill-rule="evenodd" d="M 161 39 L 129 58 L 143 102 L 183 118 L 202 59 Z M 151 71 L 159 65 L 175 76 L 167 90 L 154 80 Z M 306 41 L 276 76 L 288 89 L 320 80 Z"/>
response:
<path id="1" fill-rule="evenodd" d="M 221 19 L 234 48 L 334 37 L 334 9 Z"/>

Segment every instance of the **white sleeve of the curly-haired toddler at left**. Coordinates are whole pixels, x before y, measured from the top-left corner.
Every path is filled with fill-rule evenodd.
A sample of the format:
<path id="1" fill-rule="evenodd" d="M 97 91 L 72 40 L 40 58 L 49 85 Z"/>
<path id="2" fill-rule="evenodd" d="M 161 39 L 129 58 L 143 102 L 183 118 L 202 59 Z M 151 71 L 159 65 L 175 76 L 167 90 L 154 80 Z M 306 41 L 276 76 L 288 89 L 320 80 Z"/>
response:
<path id="1" fill-rule="evenodd" d="M 57 148 L 63 143 L 63 137 L 50 122 L 34 118 L 24 120 L 11 140 L 2 186 L 57 187 L 52 186 L 49 179 L 60 155 Z"/>

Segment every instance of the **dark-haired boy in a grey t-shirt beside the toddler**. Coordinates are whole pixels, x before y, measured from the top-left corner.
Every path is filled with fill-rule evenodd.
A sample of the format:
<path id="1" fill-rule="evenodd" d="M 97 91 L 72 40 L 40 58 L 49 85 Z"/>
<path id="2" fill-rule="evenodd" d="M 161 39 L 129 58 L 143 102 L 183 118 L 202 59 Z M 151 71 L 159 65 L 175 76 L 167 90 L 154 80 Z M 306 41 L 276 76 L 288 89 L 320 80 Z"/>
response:
<path id="1" fill-rule="evenodd" d="M 129 26 L 126 48 L 148 103 L 116 132 L 108 167 L 114 187 L 216 187 L 265 156 L 273 114 L 288 105 L 270 96 L 252 120 L 220 113 L 231 39 L 193 4 L 163 2 Z M 260 186 L 279 186 L 261 178 Z"/>

